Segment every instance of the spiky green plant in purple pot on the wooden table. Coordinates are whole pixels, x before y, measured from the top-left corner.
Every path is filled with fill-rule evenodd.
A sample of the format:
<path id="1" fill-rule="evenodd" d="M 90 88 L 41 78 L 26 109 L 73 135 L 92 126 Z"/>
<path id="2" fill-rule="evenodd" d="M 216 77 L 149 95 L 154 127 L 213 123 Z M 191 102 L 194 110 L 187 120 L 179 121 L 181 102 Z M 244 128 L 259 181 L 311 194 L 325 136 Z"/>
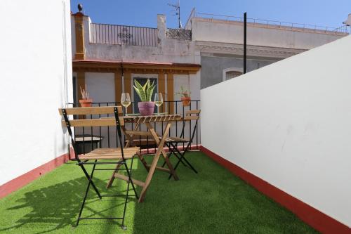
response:
<path id="1" fill-rule="evenodd" d="M 138 108 L 140 115 L 152 115 L 154 113 L 154 102 L 151 101 L 152 93 L 154 92 L 154 82 L 147 82 L 142 86 L 137 80 L 134 80 L 134 90 L 138 93 L 140 102 L 138 103 Z"/>

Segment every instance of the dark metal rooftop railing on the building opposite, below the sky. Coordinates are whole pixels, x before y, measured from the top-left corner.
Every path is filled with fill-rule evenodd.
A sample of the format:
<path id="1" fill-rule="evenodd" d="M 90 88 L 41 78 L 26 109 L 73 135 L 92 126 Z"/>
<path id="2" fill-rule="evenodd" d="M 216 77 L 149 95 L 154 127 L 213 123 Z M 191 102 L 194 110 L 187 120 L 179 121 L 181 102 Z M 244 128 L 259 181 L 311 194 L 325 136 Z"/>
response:
<path id="1" fill-rule="evenodd" d="M 95 44 L 157 46 L 157 28 L 90 24 L 90 42 Z"/>

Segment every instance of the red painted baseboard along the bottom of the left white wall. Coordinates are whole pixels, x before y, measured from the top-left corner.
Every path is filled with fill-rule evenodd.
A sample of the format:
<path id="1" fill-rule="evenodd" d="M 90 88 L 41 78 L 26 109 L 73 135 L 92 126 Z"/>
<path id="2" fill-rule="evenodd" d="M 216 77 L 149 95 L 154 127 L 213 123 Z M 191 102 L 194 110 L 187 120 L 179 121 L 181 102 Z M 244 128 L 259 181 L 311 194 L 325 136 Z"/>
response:
<path id="1" fill-rule="evenodd" d="M 46 164 L 32 169 L 32 171 L 28 171 L 27 173 L 22 174 L 22 176 L 18 176 L 17 178 L 4 183 L 2 186 L 0 186 L 0 199 L 14 192 L 15 190 L 22 188 L 23 186 L 26 186 L 28 183 L 34 181 L 39 176 L 46 174 L 48 171 L 52 171 L 67 161 L 68 153 L 61 155 L 60 157 L 56 157 L 54 160 L 46 162 Z"/>

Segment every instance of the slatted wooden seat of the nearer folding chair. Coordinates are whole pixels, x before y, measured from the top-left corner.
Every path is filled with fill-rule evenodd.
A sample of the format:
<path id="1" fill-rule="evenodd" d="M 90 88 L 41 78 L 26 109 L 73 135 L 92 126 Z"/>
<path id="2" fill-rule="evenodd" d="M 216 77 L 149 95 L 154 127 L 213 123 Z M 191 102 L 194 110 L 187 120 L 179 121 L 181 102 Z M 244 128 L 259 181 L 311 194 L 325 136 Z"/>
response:
<path id="1" fill-rule="evenodd" d="M 124 158 L 131 159 L 138 151 L 139 147 L 124 148 Z M 98 148 L 85 155 L 79 156 L 80 160 L 121 160 L 122 153 L 120 148 Z"/>

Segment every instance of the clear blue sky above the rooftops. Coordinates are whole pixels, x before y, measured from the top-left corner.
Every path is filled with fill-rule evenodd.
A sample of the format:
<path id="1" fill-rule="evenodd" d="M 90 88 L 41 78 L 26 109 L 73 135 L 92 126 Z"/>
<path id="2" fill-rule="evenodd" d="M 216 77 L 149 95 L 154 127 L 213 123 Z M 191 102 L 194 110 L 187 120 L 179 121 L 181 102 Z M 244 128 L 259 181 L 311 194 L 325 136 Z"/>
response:
<path id="1" fill-rule="evenodd" d="M 178 0 L 71 0 L 72 12 L 77 4 L 84 6 L 84 13 L 93 22 L 157 27 L 157 14 L 165 14 L 167 27 L 178 27 L 175 11 L 168 3 Z M 339 27 L 351 13 L 351 0 L 180 0 L 183 25 L 192 10 L 221 15 L 261 18 L 310 25 Z"/>

